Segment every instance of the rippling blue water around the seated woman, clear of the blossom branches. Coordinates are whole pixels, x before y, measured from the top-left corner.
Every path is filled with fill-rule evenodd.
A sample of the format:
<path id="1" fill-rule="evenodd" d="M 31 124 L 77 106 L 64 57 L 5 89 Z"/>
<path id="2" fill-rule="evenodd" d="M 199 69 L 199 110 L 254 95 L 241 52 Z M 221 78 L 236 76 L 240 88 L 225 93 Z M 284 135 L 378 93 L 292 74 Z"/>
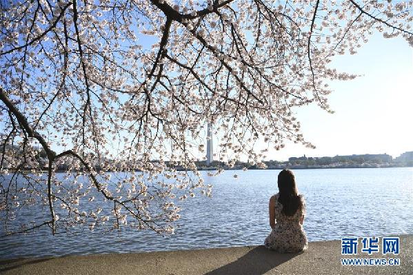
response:
<path id="1" fill-rule="evenodd" d="M 0 239 L 0 258 L 65 254 L 147 252 L 262 244 L 270 233 L 268 199 L 278 170 L 225 171 L 209 177 L 212 198 L 181 203 L 172 236 L 124 230 L 58 234 L 40 230 Z M 307 203 L 309 241 L 342 236 L 413 234 L 413 168 L 295 170 Z M 233 175 L 239 178 L 234 179 Z"/>

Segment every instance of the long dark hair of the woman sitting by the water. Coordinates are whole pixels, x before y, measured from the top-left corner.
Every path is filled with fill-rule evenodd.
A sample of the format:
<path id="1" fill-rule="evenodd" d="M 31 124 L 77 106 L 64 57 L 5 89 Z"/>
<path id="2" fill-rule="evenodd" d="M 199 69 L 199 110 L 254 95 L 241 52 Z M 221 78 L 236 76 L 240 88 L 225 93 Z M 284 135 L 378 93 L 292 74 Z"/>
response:
<path id="1" fill-rule="evenodd" d="M 295 184 L 294 174 L 291 170 L 284 169 L 278 175 L 279 198 L 283 205 L 282 212 L 286 216 L 292 216 L 301 207 L 301 198 Z"/>

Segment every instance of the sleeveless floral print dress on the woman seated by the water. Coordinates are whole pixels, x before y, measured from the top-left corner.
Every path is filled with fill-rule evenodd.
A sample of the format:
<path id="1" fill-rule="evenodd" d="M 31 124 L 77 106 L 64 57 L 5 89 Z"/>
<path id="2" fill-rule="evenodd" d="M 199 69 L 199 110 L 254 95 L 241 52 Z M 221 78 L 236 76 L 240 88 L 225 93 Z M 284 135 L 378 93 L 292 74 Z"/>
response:
<path id="1" fill-rule="evenodd" d="M 280 253 L 300 252 L 308 247 L 307 236 L 300 224 L 300 218 L 305 215 L 305 201 L 299 195 L 302 207 L 292 216 L 286 216 L 281 210 L 283 205 L 279 203 L 279 194 L 275 194 L 275 220 L 276 224 L 270 235 L 265 238 L 264 245 L 269 249 L 274 249 Z"/>

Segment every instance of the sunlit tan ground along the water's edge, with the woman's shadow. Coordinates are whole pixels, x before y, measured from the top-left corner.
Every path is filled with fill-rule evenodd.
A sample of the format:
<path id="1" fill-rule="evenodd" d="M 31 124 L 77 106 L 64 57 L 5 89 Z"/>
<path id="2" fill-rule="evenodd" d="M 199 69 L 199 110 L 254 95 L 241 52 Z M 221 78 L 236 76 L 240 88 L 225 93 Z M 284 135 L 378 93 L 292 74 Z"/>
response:
<path id="1" fill-rule="evenodd" d="M 1 274 L 413 274 L 413 235 L 401 235 L 399 256 L 341 255 L 341 241 L 309 244 L 301 254 L 262 246 L 97 254 L 0 261 Z M 360 241 L 359 241 L 360 243 Z M 342 266 L 341 258 L 399 258 L 399 266 Z"/>

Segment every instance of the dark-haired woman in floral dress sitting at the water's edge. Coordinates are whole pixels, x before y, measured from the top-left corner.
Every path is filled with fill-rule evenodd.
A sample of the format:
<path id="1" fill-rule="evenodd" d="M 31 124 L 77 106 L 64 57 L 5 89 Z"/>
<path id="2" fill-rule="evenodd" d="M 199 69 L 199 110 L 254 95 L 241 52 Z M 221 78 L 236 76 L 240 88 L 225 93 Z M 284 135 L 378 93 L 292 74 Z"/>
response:
<path id="1" fill-rule="evenodd" d="M 272 232 L 265 238 L 265 247 L 276 252 L 300 252 L 307 248 L 303 230 L 305 201 L 298 194 L 294 174 L 283 170 L 278 176 L 279 193 L 270 198 L 270 226 Z"/>

